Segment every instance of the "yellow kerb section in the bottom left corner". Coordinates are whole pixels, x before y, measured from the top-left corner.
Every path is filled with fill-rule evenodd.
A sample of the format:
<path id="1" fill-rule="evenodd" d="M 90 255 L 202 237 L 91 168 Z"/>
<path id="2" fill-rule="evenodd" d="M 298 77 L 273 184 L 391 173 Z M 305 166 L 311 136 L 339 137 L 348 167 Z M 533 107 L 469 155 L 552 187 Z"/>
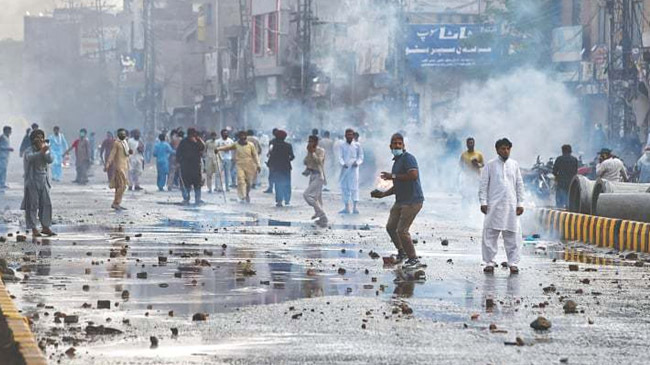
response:
<path id="1" fill-rule="evenodd" d="M 0 280 L 0 314 L 11 330 L 23 362 L 26 365 L 46 365 L 47 360 L 36 343 L 27 318 L 18 312 L 2 280 Z"/>

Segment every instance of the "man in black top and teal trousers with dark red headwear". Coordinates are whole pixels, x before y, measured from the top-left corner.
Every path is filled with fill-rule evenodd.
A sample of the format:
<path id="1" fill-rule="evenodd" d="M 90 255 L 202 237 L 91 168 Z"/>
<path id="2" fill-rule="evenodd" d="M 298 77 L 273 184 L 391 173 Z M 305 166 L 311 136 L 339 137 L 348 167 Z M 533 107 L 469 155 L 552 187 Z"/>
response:
<path id="1" fill-rule="evenodd" d="M 269 173 L 275 183 L 275 206 L 281 207 L 291 203 L 291 161 L 295 158 L 293 147 L 285 142 L 287 132 L 278 131 L 277 141 L 269 155 Z"/>

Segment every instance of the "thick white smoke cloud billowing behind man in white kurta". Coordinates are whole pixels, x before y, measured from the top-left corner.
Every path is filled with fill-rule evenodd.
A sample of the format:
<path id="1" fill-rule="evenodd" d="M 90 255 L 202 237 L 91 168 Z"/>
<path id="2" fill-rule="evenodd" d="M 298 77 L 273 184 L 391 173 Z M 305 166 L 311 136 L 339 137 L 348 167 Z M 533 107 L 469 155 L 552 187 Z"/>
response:
<path id="1" fill-rule="evenodd" d="M 538 155 L 555 157 L 561 145 L 581 140 L 578 99 L 563 83 L 531 68 L 464 85 L 452 110 L 444 127 L 459 137 L 474 136 L 486 157 L 496 155 L 494 142 L 503 137 L 522 164 Z"/>

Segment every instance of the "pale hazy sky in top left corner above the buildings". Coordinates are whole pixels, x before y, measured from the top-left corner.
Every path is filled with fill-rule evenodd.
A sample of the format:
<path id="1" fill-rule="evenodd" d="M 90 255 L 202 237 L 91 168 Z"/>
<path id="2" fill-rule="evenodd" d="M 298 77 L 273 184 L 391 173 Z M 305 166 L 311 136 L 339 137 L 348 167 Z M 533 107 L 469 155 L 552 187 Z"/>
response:
<path id="1" fill-rule="evenodd" d="M 72 0 L 75 4 L 93 4 L 95 0 Z M 108 4 L 121 5 L 122 0 L 104 0 Z M 29 11 L 50 13 L 57 6 L 64 6 L 70 0 L 0 0 L 0 39 L 23 38 L 23 17 Z"/>

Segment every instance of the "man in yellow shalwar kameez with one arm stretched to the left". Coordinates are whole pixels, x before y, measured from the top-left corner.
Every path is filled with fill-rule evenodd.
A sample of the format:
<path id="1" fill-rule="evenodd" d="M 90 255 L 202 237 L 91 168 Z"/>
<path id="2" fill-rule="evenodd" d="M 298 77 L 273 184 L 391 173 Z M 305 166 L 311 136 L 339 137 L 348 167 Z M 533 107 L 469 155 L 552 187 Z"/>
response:
<path id="1" fill-rule="evenodd" d="M 235 151 L 237 165 L 237 195 L 240 203 L 250 203 L 250 191 L 257 174 L 261 171 L 259 155 L 253 142 L 247 140 L 245 131 L 237 133 L 237 143 L 219 147 L 217 151 Z"/>

